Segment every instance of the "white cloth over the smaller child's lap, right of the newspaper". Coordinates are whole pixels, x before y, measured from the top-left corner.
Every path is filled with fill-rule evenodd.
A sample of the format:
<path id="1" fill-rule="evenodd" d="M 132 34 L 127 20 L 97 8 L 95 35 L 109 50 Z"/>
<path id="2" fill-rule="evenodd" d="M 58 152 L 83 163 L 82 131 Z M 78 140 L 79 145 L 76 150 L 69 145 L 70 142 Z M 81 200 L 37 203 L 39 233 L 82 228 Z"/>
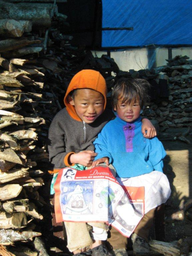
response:
<path id="1" fill-rule="evenodd" d="M 170 183 L 166 175 L 153 171 L 132 178 L 117 178 L 126 187 L 145 187 L 145 213 L 165 203 L 171 195 Z"/>

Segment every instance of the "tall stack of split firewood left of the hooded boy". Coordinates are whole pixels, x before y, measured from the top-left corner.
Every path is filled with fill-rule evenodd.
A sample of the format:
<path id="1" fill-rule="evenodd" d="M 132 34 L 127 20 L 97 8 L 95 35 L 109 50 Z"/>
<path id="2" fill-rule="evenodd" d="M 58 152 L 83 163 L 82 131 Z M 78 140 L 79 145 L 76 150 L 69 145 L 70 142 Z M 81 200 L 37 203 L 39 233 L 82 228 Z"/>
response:
<path id="1" fill-rule="evenodd" d="M 70 45 L 72 37 L 57 29 L 67 17 L 55 1 L 26 2 L 0 0 L 0 244 L 10 255 L 48 255 L 37 236 L 49 197 L 49 189 L 39 191 L 49 169 L 50 123 L 79 70 L 99 70 L 111 87 L 109 72 L 118 67 L 107 55 Z M 34 241 L 34 251 L 22 241 Z"/>

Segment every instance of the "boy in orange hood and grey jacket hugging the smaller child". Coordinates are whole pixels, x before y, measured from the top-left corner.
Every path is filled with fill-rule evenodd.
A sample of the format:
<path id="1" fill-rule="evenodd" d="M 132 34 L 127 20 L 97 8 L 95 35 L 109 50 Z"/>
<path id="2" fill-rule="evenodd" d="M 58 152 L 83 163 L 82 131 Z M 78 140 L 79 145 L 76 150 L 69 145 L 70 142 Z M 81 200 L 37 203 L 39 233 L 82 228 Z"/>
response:
<path id="1" fill-rule="evenodd" d="M 79 167 L 77 164 L 82 166 L 82 170 L 90 167 L 97 155 L 94 153 L 93 141 L 103 126 L 114 117 L 111 110 L 105 109 L 105 79 L 95 70 L 82 70 L 71 79 L 64 102 L 66 108 L 55 115 L 49 129 L 49 157 L 53 173 L 68 166 L 76 169 Z M 156 135 L 154 126 L 148 119 L 142 119 L 142 133 L 146 138 Z M 92 224 L 99 231 L 97 236 L 93 227 L 91 238 L 86 223 L 65 222 L 69 251 L 84 255 L 81 252 L 85 251 L 86 246 L 90 246 L 92 255 L 111 255 L 101 243 L 101 240 L 107 239 L 104 223 Z M 99 234 L 100 231 L 102 234 Z"/>

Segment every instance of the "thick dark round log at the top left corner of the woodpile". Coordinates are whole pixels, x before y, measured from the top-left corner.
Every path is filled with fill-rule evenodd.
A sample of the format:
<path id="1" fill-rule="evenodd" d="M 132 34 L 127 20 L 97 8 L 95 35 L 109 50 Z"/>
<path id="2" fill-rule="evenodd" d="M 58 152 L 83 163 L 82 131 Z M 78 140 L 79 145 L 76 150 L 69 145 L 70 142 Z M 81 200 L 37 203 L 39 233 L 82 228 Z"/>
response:
<path id="1" fill-rule="evenodd" d="M 21 6 L 17 4 L 0 2 L 0 13 L 2 19 L 29 20 L 33 23 L 33 28 L 49 28 L 51 26 L 51 17 L 49 10 L 39 7 L 37 4 L 31 9 L 27 4 Z"/>

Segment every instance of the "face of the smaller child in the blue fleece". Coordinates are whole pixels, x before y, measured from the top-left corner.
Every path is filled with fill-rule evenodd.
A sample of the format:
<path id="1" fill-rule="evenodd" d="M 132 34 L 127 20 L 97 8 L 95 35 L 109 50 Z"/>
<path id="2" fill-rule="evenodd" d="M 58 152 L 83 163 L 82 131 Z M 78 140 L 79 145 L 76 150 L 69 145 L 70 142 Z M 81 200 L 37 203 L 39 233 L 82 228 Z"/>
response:
<path id="1" fill-rule="evenodd" d="M 122 101 L 123 98 L 119 98 L 117 108 L 114 108 L 114 110 L 117 111 L 118 117 L 127 123 L 135 121 L 140 116 L 141 111 L 139 99 L 131 103 L 122 103 Z"/>

